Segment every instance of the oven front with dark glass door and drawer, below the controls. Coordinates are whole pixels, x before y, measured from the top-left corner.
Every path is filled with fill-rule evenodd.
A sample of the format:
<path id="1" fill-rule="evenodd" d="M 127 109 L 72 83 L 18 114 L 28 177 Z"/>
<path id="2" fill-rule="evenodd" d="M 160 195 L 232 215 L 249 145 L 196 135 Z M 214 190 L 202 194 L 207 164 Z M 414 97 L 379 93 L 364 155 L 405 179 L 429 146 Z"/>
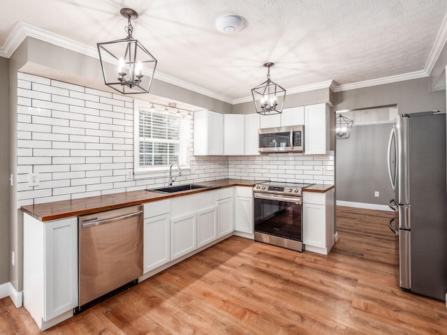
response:
<path id="1" fill-rule="evenodd" d="M 301 197 L 254 193 L 255 240 L 302 251 L 301 211 Z"/>

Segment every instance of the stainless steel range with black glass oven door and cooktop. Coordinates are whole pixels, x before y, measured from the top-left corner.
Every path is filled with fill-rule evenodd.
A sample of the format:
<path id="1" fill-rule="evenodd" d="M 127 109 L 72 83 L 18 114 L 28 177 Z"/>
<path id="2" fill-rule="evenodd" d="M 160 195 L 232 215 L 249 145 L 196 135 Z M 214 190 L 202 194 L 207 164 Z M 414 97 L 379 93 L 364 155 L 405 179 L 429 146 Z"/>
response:
<path id="1" fill-rule="evenodd" d="M 312 184 L 266 181 L 254 191 L 254 239 L 302 251 L 302 188 Z"/>

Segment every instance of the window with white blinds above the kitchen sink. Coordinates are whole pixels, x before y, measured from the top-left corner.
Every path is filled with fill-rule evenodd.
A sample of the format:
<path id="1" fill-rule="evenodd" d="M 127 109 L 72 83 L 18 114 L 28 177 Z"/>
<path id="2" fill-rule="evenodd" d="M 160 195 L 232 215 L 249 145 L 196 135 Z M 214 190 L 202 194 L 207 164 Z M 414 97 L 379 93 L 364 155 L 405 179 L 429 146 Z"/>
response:
<path id="1" fill-rule="evenodd" d="M 168 170 L 174 162 L 182 168 L 189 167 L 188 118 L 152 110 L 144 102 L 135 101 L 134 124 L 135 173 Z"/>

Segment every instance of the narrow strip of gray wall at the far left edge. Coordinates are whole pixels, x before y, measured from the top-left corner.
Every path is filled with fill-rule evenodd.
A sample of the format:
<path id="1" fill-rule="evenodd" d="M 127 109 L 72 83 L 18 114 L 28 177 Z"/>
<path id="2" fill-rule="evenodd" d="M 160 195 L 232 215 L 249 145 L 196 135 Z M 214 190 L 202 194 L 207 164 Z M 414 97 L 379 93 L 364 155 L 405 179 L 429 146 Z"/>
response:
<path id="1" fill-rule="evenodd" d="M 9 59 L 0 57 L 0 285 L 10 278 Z"/>

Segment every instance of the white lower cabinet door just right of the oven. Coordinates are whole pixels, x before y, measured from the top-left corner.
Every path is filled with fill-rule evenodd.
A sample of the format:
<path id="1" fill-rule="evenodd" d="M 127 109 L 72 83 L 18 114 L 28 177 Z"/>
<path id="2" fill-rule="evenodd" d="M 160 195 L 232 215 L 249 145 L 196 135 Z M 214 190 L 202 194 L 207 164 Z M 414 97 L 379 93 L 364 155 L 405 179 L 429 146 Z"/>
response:
<path id="1" fill-rule="evenodd" d="M 325 248 L 326 216 L 323 204 L 302 204 L 302 241 L 305 245 Z"/>

